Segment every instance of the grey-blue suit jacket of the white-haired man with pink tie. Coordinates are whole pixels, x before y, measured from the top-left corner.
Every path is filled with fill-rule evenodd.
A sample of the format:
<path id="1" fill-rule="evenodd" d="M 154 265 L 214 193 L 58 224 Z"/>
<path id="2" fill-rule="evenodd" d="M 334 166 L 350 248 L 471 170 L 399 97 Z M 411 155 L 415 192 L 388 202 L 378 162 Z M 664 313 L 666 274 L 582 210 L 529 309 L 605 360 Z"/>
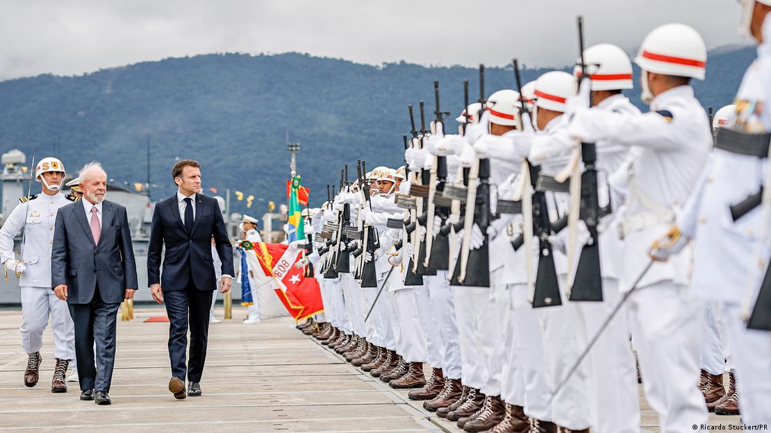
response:
<path id="1" fill-rule="evenodd" d="M 94 243 L 82 201 L 59 209 L 51 251 L 51 285 L 59 284 L 67 285 L 68 304 L 89 304 L 97 284 L 107 304 L 122 302 L 126 289 L 137 288 L 125 207 L 103 201 L 99 245 Z"/>

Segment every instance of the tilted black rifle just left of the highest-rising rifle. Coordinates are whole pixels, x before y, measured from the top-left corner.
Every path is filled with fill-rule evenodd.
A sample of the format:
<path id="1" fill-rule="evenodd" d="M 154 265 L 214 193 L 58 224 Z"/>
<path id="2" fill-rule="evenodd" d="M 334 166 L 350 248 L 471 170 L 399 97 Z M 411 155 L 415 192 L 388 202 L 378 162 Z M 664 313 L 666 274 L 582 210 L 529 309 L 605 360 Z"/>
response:
<path id="1" fill-rule="evenodd" d="M 522 77 L 520 76 L 520 65 L 517 59 L 514 59 L 514 78 L 517 80 L 517 90 L 520 92 L 520 109 L 522 113 L 530 112 L 525 105 L 522 97 Z M 532 122 L 532 117 L 530 117 Z M 546 203 L 546 194 L 536 189 L 538 173 L 540 166 L 533 166 L 527 161 L 527 171 L 530 174 L 530 186 L 533 187 L 533 234 L 538 239 L 538 269 L 535 277 L 535 287 L 532 296 L 534 308 L 549 307 L 562 304 L 559 282 L 557 280 L 557 268 L 554 266 L 554 253 L 549 242 L 549 236 L 553 232 L 551 221 L 549 220 L 549 208 Z M 525 216 L 527 217 L 527 216 Z M 530 243 L 527 236 L 523 237 L 524 243 Z"/>

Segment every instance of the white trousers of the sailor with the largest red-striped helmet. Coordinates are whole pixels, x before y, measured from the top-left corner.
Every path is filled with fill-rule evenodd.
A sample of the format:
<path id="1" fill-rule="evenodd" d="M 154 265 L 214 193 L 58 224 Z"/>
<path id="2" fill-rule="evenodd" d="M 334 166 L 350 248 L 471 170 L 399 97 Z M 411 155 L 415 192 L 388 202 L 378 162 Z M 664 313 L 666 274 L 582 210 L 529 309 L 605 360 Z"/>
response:
<path id="1" fill-rule="evenodd" d="M 702 364 L 704 301 L 663 280 L 639 288 L 627 302 L 645 398 L 658 412 L 661 431 L 685 433 L 707 424 L 704 397 L 695 386 Z"/>

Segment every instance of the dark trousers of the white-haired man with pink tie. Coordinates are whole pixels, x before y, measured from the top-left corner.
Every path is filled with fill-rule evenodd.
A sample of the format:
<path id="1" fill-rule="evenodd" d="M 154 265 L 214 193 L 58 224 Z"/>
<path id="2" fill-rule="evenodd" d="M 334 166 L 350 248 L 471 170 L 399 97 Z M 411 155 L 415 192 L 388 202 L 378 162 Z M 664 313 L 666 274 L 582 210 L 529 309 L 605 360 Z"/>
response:
<path id="1" fill-rule="evenodd" d="M 115 366 L 116 319 L 120 304 L 106 304 L 99 286 L 89 304 L 69 304 L 75 324 L 75 358 L 78 361 L 80 390 L 109 392 Z M 96 365 L 94 365 L 96 341 Z"/>

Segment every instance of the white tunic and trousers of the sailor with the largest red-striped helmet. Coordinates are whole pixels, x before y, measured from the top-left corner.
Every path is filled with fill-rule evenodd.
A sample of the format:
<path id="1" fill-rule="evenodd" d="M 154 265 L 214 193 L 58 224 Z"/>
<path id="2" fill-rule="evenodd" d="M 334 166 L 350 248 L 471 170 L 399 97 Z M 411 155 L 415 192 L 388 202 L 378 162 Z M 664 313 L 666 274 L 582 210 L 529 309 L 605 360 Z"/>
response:
<path id="1" fill-rule="evenodd" d="M 620 287 L 630 290 L 650 263 L 651 243 L 672 225 L 698 180 L 712 144 L 706 113 L 690 86 L 678 86 L 656 96 L 651 112 L 577 112 L 569 130 L 586 141 L 638 148 L 626 173 L 611 176 L 611 186 L 626 192 Z M 704 398 L 693 386 L 701 367 L 704 308 L 685 289 L 688 265 L 688 250 L 654 264 L 627 305 L 645 394 L 665 431 L 692 431 L 707 420 Z"/>

